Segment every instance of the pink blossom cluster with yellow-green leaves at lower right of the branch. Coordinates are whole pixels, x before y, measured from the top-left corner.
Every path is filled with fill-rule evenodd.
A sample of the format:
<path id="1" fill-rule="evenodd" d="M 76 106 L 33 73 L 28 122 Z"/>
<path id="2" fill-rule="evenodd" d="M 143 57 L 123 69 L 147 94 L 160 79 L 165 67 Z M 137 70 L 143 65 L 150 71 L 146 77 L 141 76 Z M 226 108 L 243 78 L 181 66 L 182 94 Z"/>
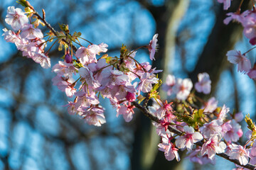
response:
<path id="1" fill-rule="evenodd" d="M 178 84 L 173 75 L 167 77 L 164 85 L 164 90 L 169 95 L 174 93 L 176 98 L 180 99 L 178 98 L 178 92 L 175 90 Z M 193 98 L 190 90 L 188 94 Z M 196 91 L 205 94 L 210 93 L 208 74 L 198 74 Z M 188 95 L 185 99 L 189 102 Z M 191 102 L 194 100 L 196 98 L 193 98 Z M 183 103 L 186 103 L 186 101 L 183 101 Z M 159 118 L 159 123 L 153 123 L 162 141 L 159 144 L 159 150 L 164 152 L 168 160 L 176 158 L 178 161 L 178 149 L 187 149 L 188 158 L 199 164 L 213 163 L 215 154 L 224 152 L 228 154 L 230 159 L 238 159 L 241 165 L 247 164 L 249 157 L 252 157 L 249 154 L 249 149 L 235 144 L 243 134 L 239 124 L 242 120 L 242 113 L 233 113 L 228 116 L 230 108 L 225 105 L 218 108 L 218 101 L 215 98 L 210 98 L 204 103 L 199 110 L 188 106 L 189 103 L 185 104 L 186 107 L 180 106 L 177 101 L 167 103 L 167 101 L 162 102 L 161 100 L 149 107 L 151 114 Z M 178 108 L 178 106 L 181 108 Z M 174 132 L 171 132 L 169 126 L 181 130 L 182 135 L 177 136 Z M 196 146 L 195 143 L 197 143 Z"/>

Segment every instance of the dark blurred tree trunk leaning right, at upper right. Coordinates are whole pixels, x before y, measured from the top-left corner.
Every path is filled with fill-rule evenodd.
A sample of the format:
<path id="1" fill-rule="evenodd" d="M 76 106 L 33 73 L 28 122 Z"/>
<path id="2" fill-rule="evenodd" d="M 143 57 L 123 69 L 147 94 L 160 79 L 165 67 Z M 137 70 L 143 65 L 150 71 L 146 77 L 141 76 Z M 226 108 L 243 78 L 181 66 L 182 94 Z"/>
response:
<path id="1" fill-rule="evenodd" d="M 226 26 L 223 20 L 227 17 L 229 11 L 237 11 L 240 1 L 233 1 L 228 11 L 223 11 L 223 6 L 219 6 L 216 11 L 215 25 L 206 42 L 203 52 L 198 59 L 195 69 L 189 73 L 189 77 L 194 82 L 198 81 L 197 75 L 201 72 L 207 72 L 212 81 L 212 93 L 220 79 L 220 74 L 228 65 L 226 53 L 233 50 L 236 42 L 242 38 L 242 26 L 238 23 L 229 23 Z M 243 9 L 250 6 L 250 1 L 245 0 L 242 4 Z"/>

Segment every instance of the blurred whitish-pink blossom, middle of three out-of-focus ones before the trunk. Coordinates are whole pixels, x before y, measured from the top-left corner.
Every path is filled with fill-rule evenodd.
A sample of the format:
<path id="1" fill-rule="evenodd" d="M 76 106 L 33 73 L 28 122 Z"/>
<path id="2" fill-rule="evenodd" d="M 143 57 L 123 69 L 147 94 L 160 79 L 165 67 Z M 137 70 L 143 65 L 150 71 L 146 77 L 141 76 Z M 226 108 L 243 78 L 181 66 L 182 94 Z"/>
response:
<path id="1" fill-rule="evenodd" d="M 191 79 L 178 79 L 175 85 L 176 98 L 186 100 L 193 87 Z"/>

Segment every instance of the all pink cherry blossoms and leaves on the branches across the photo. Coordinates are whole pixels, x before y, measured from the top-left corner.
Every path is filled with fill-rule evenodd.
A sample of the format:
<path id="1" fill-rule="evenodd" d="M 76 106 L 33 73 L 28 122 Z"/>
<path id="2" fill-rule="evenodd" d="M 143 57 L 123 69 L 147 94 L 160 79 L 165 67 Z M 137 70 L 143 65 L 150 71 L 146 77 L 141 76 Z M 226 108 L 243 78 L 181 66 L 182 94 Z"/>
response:
<path id="1" fill-rule="evenodd" d="M 230 7 L 231 0 L 218 1 L 224 4 L 224 9 Z M 46 35 L 48 40 L 43 40 L 43 33 L 37 27 L 41 21 L 47 24 L 45 17 L 38 16 L 27 1 L 18 2 L 26 6 L 27 15 L 20 8 L 8 8 L 6 23 L 13 30 L 5 28 L 4 39 L 13 42 L 23 56 L 40 63 L 43 68 L 50 67 L 48 52 L 44 52 L 48 42 L 59 42 L 58 50 L 65 47 L 62 60 L 52 68 L 56 74 L 52 81 L 53 85 L 71 98 L 65 105 L 68 113 L 78 115 L 89 125 L 101 126 L 106 123 L 106 119 L 99 98 L 108 98 L 116 108 L 117 116 L 122 115 L 127 122 L 132 120 L 135 107 L 154 120 L 156 133 L 161 137 L 159 150 L 164 152 L 169 161 L 179 161 L 178 151 L 181 149 L 187 150 L 188 158 L 199 164 L 213 163 L 216 154 L 236 159 L 240 166 L 256 163 L 256 127 L 250 117 L 245 118 L 250 131 L 247 143 L 242 146 L 238 143 L 243 135 L 239 124 L 242 113 L 230 113 L 230 108 L 225 105 L 218 107 L 214 97 L 203 101 L 196 96 L 196 91 L 210 94 L 211 81 L 206 72 L 198 74 L 195 90 L 191 79 L 180 79 L 169 74 L 162 89 L 173 98 L 170 101 L 161 99 L 157 92 L 161 85 L 157 73 L 161 70 L 152 68 L 149 62 L 139 63 L 135 59 L 137 50 L 146 47 L 149 59 L 155 60 L 158 34 L 154 35 L 149 45 L 138 47 L 137 50 L 128 50 L 122 45 L 120 56 L 110 57 L 106 54 L 107 44 L 102 42 L 96 45 L 86 40 L 90 45 L 83 46 L 78 40 L 81 33 L 71 35 L 68 25 L 60 25 L 60 32 L 51 29 Z M 32 24 L 29 21 L 33 15 L 36 21 Z M 228 15 L 225 23 L 232 20 L 242 23 L 245 36 L 250 38 L 251 44 L 255 44 L 255 10 Z M 50 28 L 49 25 L 47 27 Z M 80 47 L 77 49 L 73 42 Z M 231 50 L 227 55 L 231 63 L 238 64 L 239 72 L 255 79 L 256 66 L 251 67 L 245 53 Z M 152 106 L 148 105 L 150 99 L 153 99 Z M 140 105 L 142 102 L 143 105 Z"/>

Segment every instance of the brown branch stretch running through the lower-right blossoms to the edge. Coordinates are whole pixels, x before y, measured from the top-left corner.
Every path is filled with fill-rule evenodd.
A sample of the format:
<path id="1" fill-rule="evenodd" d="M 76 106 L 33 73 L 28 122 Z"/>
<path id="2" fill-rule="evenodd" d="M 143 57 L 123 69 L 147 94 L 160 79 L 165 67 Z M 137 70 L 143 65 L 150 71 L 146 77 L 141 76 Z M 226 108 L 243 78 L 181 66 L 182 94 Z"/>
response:
<path id="1" fill-rule="evenodd" d="M 152 115 L 151 113 L 149 113 L 149 111 L 146 109 L 146 107 L 144 107 L 144 106 L 141 106 L 141 105 L 139 105 L 139 103 L 137 103 L 137 102 L 132 102 L 132 104 L 134 105 L 134 106 L 136 106 L 137 108 L 139 108 L 139 110 L 140 111 L 142 111 L 142 113 L 144 113 L 144 115 L 146 115 L 146 117 L 148 117 L 149 119 L 151 119 L 151 120 L 153 120 L 154 122 L 156 122 L 156 123 L 160 123 L 160 119 L 159 118 L 156 118 L 154 115 Z M 168 126 L 168 130 L 170 131 L 170 132 L 174 132 L 176 135 L 182 135 L 183 134 L 183 132 L 181 132 L 180 130 L 177 130 L 176 128 L 173 128 L 173 127 L 171 127 L 170 125 Z M 200 142 L 196 142 L 196 145 L 198 145 L 198 146 L 203 146 L 203 142 L 202 141 L 200 141 Z M 229 157 L 228 157 L 228 154 L 225 154 L 225 153 L 220 153 L 220 154 L 217 154 L 219 157 L 223 157 L 224 159 L 227 159 L 228 161 L 230 161 L 230 162 L 233 162 L 233 163 L 235 163 L 235 164 L 238 164 L 239 166 L 242 166 L 242 167 L 245 167 L 245 168 L 247 168 L 247 169 L 256 169 L 256 166 L 255 165 L 252 165 L 252 164 L 246 164 L 246 165 L 241 165 L 240 164 L 240 162 L 238 161 L 238 159 L 230 159 Z"/>

